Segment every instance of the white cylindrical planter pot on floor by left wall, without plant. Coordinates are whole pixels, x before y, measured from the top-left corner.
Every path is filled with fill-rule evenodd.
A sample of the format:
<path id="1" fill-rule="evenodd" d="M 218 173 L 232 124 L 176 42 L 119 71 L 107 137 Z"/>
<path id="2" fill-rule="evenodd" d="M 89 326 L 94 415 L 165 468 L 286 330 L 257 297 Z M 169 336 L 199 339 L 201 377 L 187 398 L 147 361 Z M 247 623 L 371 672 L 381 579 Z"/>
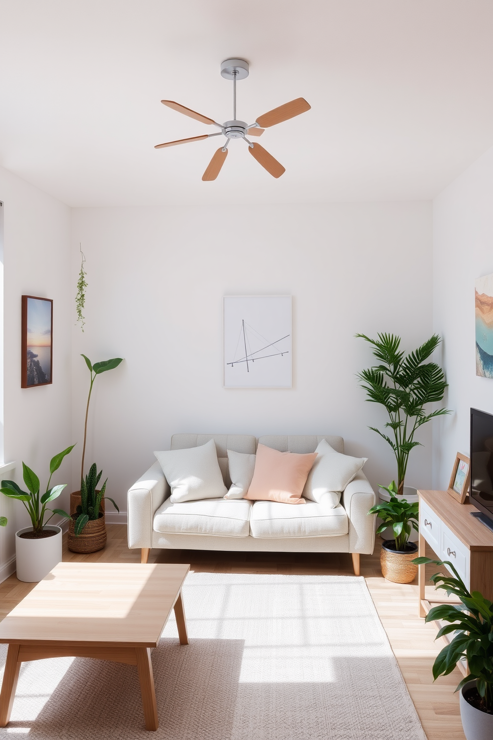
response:
<path id="1" fill-rule="evenodd" d="M 47 525 L 56 534 L 42 539 L 23 539 L 20 534 L 32 531 L 24 527 L 16 532 L 16 568 L 19 581 L 34 583 L 44 579 L 61 562 L 61 528 Z"/>

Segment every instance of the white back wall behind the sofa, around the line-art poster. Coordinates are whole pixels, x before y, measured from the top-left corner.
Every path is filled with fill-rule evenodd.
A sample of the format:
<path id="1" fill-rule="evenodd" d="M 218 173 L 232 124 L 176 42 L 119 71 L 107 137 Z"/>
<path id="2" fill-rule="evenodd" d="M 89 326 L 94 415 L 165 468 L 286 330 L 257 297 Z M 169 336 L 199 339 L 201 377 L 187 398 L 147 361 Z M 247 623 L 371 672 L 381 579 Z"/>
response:
<path id="1" fill-rule="evenodd" d="M 86 255 L 84 334 L 73 328 L 73 434 L 81 441 L 93 362 L 125 362 L 95 383 L 86 462 L 126 490 L 178 431 L 342 434 L 395 477 L 392 451 L 367 425 L 355 374 L 372 362 L 356 332 L 432 333 L 430 203 L 74 209 L 72 283 Z M 222 388 L 222 296 L 293 295 L 293 389 Z M 407 482 L 431 485 L 431 430 Z M 78 458 L 79 459 L 79 458 Z M 74 460 L 75 462 L 75 460 Z M 78 486 L 75 468 L 73 485 Z"/>

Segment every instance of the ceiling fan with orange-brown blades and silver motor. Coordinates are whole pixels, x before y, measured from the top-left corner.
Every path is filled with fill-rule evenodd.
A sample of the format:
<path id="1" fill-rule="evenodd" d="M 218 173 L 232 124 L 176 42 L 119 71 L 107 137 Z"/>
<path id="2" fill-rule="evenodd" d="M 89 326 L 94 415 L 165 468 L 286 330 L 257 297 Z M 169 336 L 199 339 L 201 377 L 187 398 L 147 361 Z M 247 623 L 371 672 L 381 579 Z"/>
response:
<path id="1" fill-rule="evenodd" d="M 264 129 L 280 124 L 282 121 L 288 121 L 289 118 L 294 118 L 295 115 L 300 115 L 300 113 L 305 113 L 307 110 L 310 110 L 311 106 L 307 104 L 304 98 L 296 98 L 296 100 L 292 100 L 289 103 L 279 106 L 279 108 L 274 108 L 268 113 L 260 115 L 253 124 L 238 121 L 237 80 L 244 80 L 245 77 L 248 77 L 248 62 L 244 59 L 226 59 L 221 64 L 221 75 L 227 80 L 233 80 L 233 120 L 225 121 L 224 124 L 218 124 L 212 118 L 207 118 L 207 116 L 190 110 L 190 108 L 186 108 L 184 105 L 180 105 L 180 103 L 175 103 L 172 100 L 162 100 L 161 103 L 163 105 L 167 105 L 169 108 L 183 113 L 183 115 L 188 115 L 190 118 L 195 118 L 196 121 L 201 121 L 203 124 L 217 126 L 221 130 L 214 134 L 203 134 L 202 136 L 192 136 L 191 138 L 178 139 L 177 141 L 166 141 L 165 144 L 157 144 L 154 149 L 176 147 L 177 144 L 188 144 L 188 141 L 201 141 L 202 139 L 211 138 L 211 136 L 225 136 L 226 141 L 224 146 L 217 149 L 217 152 L 215 152 L 214 157 L 209 162 L 202 176 L 203 181 L 211 181 L 215 180 L 221 171 L 221 167 L 228 155 L 228 144 L 231 139 L 242 138 L 248 144 L 248 151 L 252 157 L 270 172 L 273 178 L 280 178 L 283 172 L 285 172 L 282 164 L 274 159 L 260 144 L 253 144 L 251 141 L 248 141 L 246 135 L 261 136 Z"/>

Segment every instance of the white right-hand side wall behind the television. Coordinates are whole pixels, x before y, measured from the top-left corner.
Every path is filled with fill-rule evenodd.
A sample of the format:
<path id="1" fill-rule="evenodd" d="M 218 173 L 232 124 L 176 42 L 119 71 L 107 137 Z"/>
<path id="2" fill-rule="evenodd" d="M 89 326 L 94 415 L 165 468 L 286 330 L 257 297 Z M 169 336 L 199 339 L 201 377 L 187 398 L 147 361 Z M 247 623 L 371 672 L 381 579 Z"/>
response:
<path id="1" fill-rule="evenodd" d="M 476 377 L 475 278 L 493 272 L 493 149 L 433 203 L 433 320 L 453 414 L 435 422 L 434 488 L 447 488 L 455 454 L 469 455 L 469 408 L 493 413 L 493 381 Z"/>

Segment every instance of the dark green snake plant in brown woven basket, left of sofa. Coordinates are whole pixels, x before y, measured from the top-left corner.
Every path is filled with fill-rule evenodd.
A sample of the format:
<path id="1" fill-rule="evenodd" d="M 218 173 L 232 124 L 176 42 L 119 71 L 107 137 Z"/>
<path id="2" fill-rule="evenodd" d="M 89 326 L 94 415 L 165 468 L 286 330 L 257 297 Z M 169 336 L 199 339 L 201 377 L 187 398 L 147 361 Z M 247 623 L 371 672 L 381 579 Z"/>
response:
<path id="1" fill-rule="evenodd" d="M 120 511 L 115 501 L 104 495 L 107 478 L 101 486 L 101 491 L 96 491 L 102 472 L 99 471 L 96 474 L 97 468 L 94 462 L 89 469 L 89 474 L 86 475 L 86 480 L 81 480 L 81 503 L 78 504 L 69 522 L 67 541 L 69 550 L 72 552 L 96 552 L 106 545 L 106 527 L 104 526 L 104 514 L 101 511 L 102 501 L 108 499 L 115 509 Z"/>

